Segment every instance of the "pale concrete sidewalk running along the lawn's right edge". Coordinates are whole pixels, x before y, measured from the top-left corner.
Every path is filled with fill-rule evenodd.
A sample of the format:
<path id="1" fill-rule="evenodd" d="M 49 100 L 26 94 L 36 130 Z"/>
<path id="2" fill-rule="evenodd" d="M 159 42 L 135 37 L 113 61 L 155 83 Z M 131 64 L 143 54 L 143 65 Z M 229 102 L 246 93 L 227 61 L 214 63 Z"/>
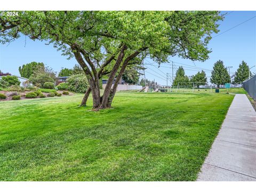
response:
<path id="1" fill-rule="evenodd" d="M 256 181 L 256 112 L 236 94 L 197 181 Z"/>

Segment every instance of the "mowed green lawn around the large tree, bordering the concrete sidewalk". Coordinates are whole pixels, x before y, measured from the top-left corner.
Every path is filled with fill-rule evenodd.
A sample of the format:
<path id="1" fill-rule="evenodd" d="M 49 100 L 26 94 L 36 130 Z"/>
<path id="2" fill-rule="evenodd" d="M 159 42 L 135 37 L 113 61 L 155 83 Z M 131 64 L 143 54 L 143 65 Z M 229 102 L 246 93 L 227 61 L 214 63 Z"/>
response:
<path id="1" fill-rule="evenodd" d="M 234 95 L 82 98 L 0 102 L 1 181 L 194 181 Z"/>

